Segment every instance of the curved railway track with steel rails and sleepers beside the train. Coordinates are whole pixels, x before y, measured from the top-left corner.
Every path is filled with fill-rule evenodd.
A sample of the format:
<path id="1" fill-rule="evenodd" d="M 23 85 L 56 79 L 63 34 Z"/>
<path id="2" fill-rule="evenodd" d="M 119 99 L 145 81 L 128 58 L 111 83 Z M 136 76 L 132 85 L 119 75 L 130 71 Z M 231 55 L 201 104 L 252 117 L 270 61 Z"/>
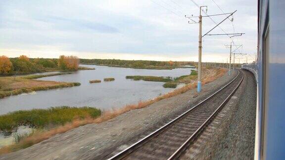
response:
<path id="1" fill-rule="evenodd" d="M 223 88 L 108 160 L 174 160 L 190 146 L 232 97 L 243 80 L 243 72 Z"/>

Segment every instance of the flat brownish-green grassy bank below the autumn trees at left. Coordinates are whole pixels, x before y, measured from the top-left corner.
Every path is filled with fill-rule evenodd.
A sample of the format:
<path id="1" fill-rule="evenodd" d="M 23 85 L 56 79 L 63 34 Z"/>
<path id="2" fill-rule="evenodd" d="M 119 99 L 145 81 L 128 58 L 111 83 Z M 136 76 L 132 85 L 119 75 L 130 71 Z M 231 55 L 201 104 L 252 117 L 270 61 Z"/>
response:
<path id="1" fill-rule="evenodd" d="M 58 76 L 72 74 L 70 72 L 47 74 L 47 75 L 31 75 L 19 77 L 0 77 L 0 98 L 22 93 L 29 93 L 38 90 L 48 90 L 55 88 L 71 87 L 80 85 L 79 82 L 57 82 L 47 80 L 34 80 L 42 77 Z"/>

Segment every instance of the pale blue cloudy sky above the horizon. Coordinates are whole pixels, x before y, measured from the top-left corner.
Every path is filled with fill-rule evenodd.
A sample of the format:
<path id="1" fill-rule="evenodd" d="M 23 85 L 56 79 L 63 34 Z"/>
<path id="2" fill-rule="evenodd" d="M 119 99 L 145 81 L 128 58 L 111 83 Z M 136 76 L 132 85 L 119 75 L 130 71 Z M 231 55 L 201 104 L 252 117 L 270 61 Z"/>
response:
<path id="1" fill-rule="evenodd" d="M 236 45 L 242 44 L 235 52 L 248 53 L 248 61 L 254 60 L 257 0 L 193 1 L 207 5 L 208 15 L 237 10 L 230 17 L 233 23 L 226 19 L 222 29 L 209 34 L 245 33 L 232 38 Z M 188 24 L 185 15 L 198 14 L 191 0 L 0 0 L 0 55 L 197 61 L 199 24 Z M 212 16 L 216 23 L 225 18 Z M 203 17 L 203 34 L 215 26 Z M 230 43 L 228 36 L 203 37 L 202 62 L 229 60 L 225 44 Z M 236 63 L 245 59 L 237 55 Z"/>

